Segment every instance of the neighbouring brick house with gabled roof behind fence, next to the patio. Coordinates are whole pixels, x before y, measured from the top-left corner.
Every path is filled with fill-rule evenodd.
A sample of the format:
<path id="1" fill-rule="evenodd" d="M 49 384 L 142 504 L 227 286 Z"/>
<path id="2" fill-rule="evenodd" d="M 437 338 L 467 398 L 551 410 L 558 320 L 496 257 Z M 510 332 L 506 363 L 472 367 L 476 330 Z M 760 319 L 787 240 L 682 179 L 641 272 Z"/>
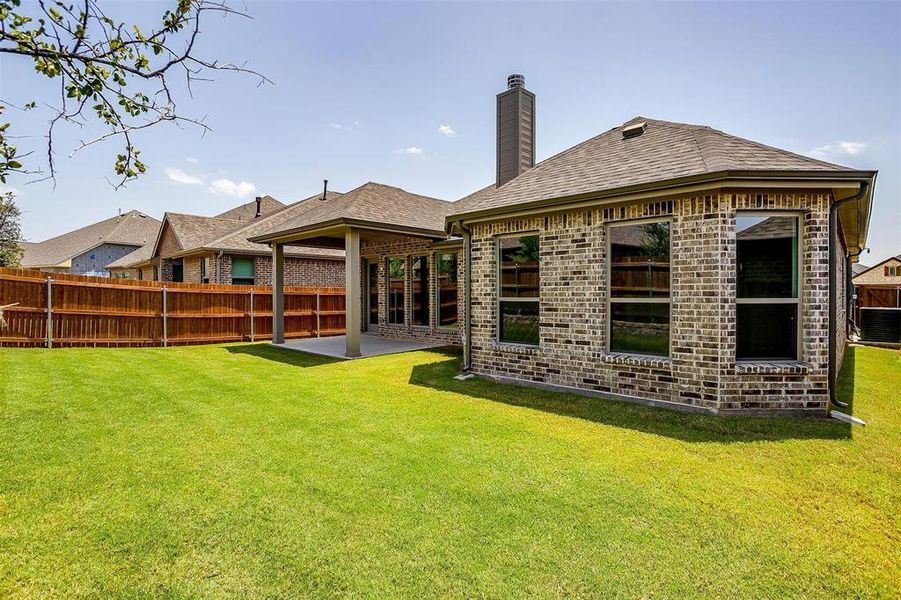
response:
<path id="1" fill-rule="evenodd" d="M 339 195 L 329 192 L 326 198 Z M 269 285 L 271 251 L 247 238 L 262 223 L 279 223 L 279 219 L 290 218 L 319 202 L 323 202 L 321 195 L 285 206 L 263 196 L 215 217 L 166 213 L 151 244 L 110 267 L 117 276 L 136 279 Z M 292 247 L 287 255 L 288 285 L 344 285 L 342 251 Z"/>

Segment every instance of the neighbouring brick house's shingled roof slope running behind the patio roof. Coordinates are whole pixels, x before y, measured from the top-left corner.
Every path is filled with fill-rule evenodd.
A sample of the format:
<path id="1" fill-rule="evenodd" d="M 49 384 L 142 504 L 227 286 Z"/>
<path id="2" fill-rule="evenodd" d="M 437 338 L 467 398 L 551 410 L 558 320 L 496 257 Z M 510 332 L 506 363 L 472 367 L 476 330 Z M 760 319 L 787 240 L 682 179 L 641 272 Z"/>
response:
<path id="1" fill-rule="evenodd" d="M 326 195 L 327 202 L 333 202 L 340 198 L 340 192 L 328 192 Z M 262 235 L 267 231 L 276 229 L 289 221 L 296 220 L 301 215 L 325 204 L 322 201 L 322 194 L 316 194 L 309 198 L 299 200 L 294 204 L 285 207 L 273 214 L 259 219 L 254 219 L 249 224 L 244 225 L 234 231 L 226 233 L 216 239 L 204 242 L 203 250 L 218 252 L 253 252 L 253 253 L 270 253 L 272 250 L 266 244 L 258 244 L 251 242 L 248 238 L 256 235 Z M 333 250 L 328 248 L 308 248 L 299 246 L 285 247 L 286 256 L 306 256 L 306 257 L 322 257 L 322 258 L 344 258 L 343 250 Z"/>

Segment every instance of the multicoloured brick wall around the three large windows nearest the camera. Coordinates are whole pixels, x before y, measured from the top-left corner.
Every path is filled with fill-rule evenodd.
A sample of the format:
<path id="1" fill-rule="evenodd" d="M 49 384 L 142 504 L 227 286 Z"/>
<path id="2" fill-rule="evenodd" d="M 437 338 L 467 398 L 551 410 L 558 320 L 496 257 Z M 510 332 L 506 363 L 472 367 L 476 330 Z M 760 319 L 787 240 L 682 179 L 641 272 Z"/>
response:
<path id="1" fill-rule="evenodd" d="M 814 412 L 828 406 L 828 211 L 819 192 L 723 192 L 569 211 L 473 226 L 473 369 L 509 377 L 720 411 Z M 735 360 L 738 210 L 802 217 L 798 363 Z M 606 352 L 608 223 L 672 220 L 671 354 Z M 540 345 L 497 340 L 496 236 L 537 232 L 541 252 Z"/>

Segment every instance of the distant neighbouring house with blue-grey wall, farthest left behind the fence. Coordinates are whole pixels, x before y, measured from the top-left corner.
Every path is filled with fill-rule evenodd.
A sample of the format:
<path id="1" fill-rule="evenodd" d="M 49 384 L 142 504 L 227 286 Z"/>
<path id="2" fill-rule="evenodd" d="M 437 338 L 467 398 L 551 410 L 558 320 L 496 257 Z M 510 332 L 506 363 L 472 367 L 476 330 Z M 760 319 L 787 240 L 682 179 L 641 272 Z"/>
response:
<path id="1" fill-rule="evenodd" d="M 151 242 L 160 222 L 136 210 L 24 247 L 22 266 L 52 273 L 108 276 L 110 263 Z"/>

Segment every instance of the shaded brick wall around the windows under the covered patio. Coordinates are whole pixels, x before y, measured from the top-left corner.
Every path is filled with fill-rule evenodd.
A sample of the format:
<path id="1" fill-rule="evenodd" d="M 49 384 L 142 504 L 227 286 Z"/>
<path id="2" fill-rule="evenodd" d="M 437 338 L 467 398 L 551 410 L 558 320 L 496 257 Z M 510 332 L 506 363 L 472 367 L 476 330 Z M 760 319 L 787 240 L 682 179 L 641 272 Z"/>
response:
<path id="1" fill-rule="evenodd" d="M 460 290 L 457 293 L 457 317 L 458 327 L 444 328 L 437 326 L 437 294 L 438 273 L 435 267 L 435 255 L 441 254 L 457 254 L 458 282 Z M 361 326 L 378 335 L 404 340 L 415 340 L 424 342 L 446 343 L 448 345 L 459 345 L 462 336 L 464 294 L 462 283 L 464 281 L 464 265 L 463 252 L 459 249 L 440 249 L 432 248 L 432 242 L 415 237 L 389 238 L 379 241 L 367 241 L 361 245 L 360 255 L 363 258 L 363 264 L 360 268 L 361 286 L 363 295 L 367 293 L 368 274 L 367 264 L 376 263 L 379 265 L 379 322 L 377 325 Z M 428 325 L 412 325 L 412 281 L 411 281 L 411 257 L 427 256 L 429 264 L 429 322 Z M 405 284 L 404 284 L 404 324 L 388 323 L 388 276 L 387 276 L 387 260 L 388 258 L 403 258 L 405 262 Z M 343 285 L 343 283 L 342 283 Z M 359 300 L 363 302 L 363 299 Z M 366 323 L 368 314 L 365 310 L 366 303 L 363 302 L 364 310 L 361 310 L 361 319 Z"/>

